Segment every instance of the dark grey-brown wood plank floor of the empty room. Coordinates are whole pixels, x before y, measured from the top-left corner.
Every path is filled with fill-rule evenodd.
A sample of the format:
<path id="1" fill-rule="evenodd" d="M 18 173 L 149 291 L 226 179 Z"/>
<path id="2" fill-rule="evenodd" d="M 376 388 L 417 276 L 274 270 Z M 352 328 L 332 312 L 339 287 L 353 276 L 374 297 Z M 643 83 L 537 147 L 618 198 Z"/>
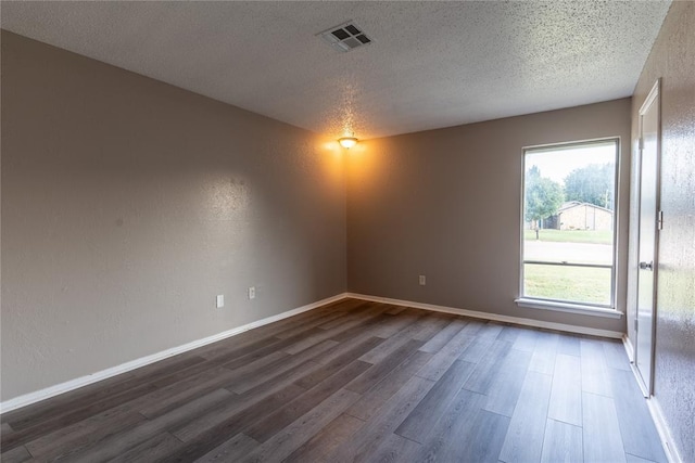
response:
<path id="1" fill-rule="evenodd" d="M 622 345 L 346 299 L 2 415 L 3 462 L 664 462 Z"/>

